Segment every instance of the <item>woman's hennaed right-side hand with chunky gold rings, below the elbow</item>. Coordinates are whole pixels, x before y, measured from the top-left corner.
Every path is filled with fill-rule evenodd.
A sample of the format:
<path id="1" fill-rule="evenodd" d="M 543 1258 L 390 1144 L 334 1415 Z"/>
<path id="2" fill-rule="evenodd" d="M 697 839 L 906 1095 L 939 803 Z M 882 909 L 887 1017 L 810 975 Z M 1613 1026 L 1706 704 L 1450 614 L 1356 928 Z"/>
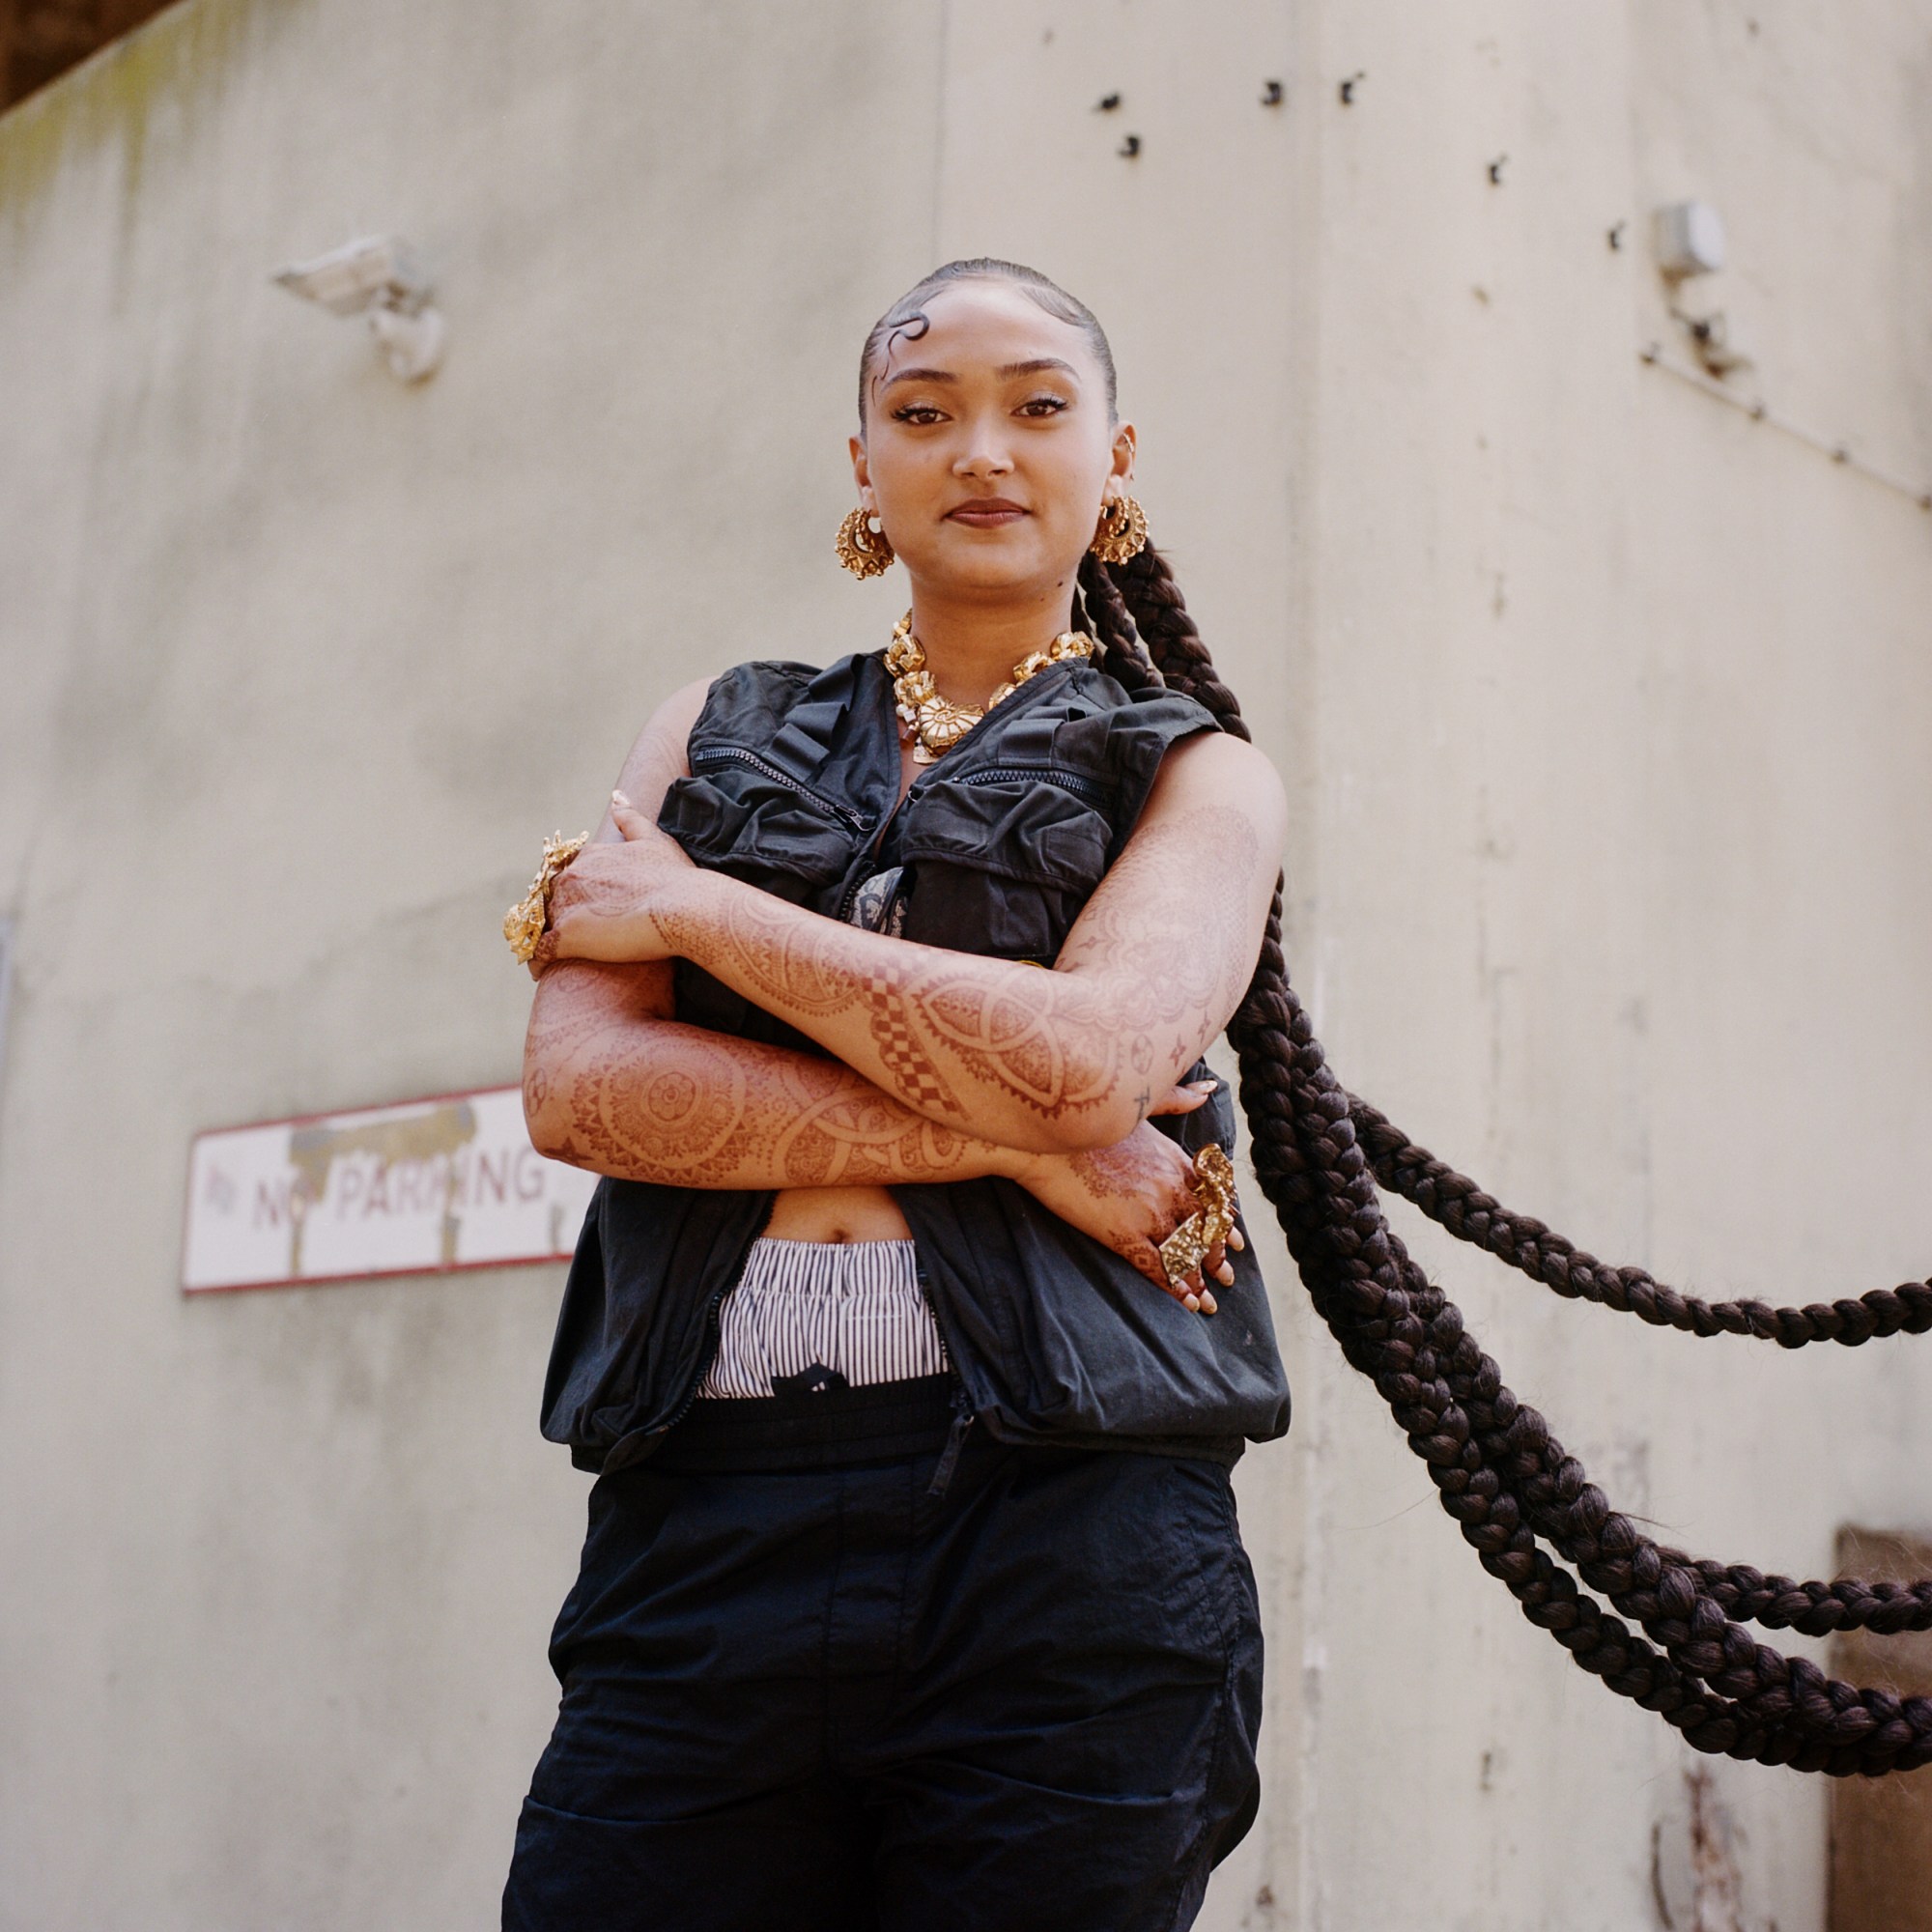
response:
<path id="1" fill-rule="evenodd" d="M 1192 1113 L 1217 1082 L 1179 1086 L 1155 1113 Z M 1161 1242 L 1200 1208 L 1194 1192 L 1194 1163 L 1163 1132 L 1142 1122 L 1113 1148 L 1086 1148 L 1080 1153 L 1020 1155 L 1012 1179 L 1043 1208 L 1082 1235 L 1132 1262 L 1163 1294 L 1204 1316 L 1215 1312 L 1213 1289 L 1202 1279 L 1213 1275 L 1223 1289 L 1235 1285 L 1227 1248 L 1246 1248 L 1240 1229 L 1225 1246 L 1215 1246 L 1202 1269 L 1180 1283 L 1167 1279 Z"/>

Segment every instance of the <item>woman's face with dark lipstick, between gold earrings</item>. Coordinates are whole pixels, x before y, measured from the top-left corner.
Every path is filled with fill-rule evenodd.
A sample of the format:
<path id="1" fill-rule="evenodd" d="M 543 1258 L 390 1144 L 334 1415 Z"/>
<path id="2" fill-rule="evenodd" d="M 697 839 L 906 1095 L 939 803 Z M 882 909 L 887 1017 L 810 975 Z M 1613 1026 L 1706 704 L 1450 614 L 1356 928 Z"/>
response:
<path id="1" fill-rule="evenodd" d="M 1107 419 L 1107 379 L 1072 323 L 1009 282 L 954 282 L 929 328 L 889 336 L 852 439 L 860 502 L 914 583 L 1041 593 L 1070 583 L 1134 431 Z"/>

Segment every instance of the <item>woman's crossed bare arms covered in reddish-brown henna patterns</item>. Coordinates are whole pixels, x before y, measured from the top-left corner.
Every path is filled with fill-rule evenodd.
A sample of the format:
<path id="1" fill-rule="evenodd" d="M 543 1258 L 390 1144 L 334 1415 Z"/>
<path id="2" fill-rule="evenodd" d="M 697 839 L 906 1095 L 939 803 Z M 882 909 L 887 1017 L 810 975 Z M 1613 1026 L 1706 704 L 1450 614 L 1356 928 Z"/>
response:
<path id="1" fill-rule="evenodd" d="M 690 866 L 653 821 L 701 701 L 692 686 L 651 721 L 626 804 L 558 879 L 524 1063 L 535 1144 L 707 1188 L 1007 1175 L 1090 1231 L 1097 1198 L 1134 1194 L 1146 1227 L 1103 1238 L 1165 1285 L 1148 1236 L 1186 1211 L 1190 1171 L 1136 1128 L 1208 1097 L 1175 1080 L 1252 970 L 1287 815 L 1273 767 L 1225 736 L 1171 752 L 1041 972 L 866 933 Z M 835 1059 L 680 1024 L 674 956 Z"/>

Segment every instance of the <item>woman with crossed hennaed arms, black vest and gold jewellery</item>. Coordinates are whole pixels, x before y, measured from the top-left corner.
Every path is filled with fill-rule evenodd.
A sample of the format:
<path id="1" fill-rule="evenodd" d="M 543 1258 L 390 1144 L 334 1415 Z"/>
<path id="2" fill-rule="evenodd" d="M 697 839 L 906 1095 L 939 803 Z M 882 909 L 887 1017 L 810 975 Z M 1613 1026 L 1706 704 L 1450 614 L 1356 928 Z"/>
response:
<path id="1" fill-rule="evenodd" d="M 609 1179 L 512 1926 L 1182 1926 L 1258 1803 L 1229 1466 L 1289 1401 L 1200 1055 L 1281 784 L 1080 303 L 927 276 L 850 454 L 891 645 L 678 692 L 535 898 L 529 1130 Z"/>

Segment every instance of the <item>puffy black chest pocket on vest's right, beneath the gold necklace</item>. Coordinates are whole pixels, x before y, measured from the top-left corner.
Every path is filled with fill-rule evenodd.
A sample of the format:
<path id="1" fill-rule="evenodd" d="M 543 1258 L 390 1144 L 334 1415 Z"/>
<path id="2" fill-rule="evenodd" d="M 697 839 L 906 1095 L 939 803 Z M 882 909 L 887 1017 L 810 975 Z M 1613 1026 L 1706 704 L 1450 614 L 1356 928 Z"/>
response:
<path id="1" fill-rule="evenodd" d="M 904 935 L 954 952 L 1051 966 L 1107 871 L 1107 786 L 1047 765 L 987 765 L 910 806 Z"/>

